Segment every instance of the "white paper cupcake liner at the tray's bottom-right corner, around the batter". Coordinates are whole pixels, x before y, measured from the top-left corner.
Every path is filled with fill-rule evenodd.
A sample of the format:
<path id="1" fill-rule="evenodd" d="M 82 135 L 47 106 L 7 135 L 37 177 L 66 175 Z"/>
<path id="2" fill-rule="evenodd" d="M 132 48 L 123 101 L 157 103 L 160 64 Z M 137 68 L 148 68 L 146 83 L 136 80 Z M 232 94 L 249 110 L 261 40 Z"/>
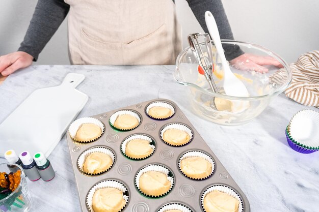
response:
<path id="1" fill-rule="evenodd" d="M 203 208 L 203 210 L 206 212 L 206 210 L 204 209 L 204 198 L 206 197 L 207 194 L 209 194 L 212 191 L 220 191 L 220 192 L 224 192 L 232 197 L 234 197 L 235 199 L 237 199 L 240 203 L 238 205 L 238 212 L 244 212 L 244 202 L 242 197 L 232 188 L 226 186 L 226 185 L 220 185 L 220 184 L 216 184 L 216 185 L 211 185 L 208 188 L 206 188 L 204 190 L 204 192 L 202 193 L 202 196 L 200 198 L 200 203 L 201 206 Z"/>

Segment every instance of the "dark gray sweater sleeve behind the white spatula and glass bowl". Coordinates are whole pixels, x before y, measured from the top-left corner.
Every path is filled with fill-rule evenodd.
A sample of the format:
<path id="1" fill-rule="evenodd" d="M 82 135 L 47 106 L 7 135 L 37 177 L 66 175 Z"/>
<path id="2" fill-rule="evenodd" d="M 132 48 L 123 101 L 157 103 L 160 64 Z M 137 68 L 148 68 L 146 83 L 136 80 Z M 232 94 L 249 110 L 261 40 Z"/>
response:
<path id="1" fill-rule="evenodd" d="M 234 40 L 231 32 L 231 28 L 224 11 L 221 0 L 186 0 L 192 9 L 195 17 L 200 23 L 205 33 L 208 33 L 208 29 L 205 22 L 205 12 L 208 10 L 214 15 L 217 23 L 218 31 L 221 39 Z M 195 32 L 194 32 L 195 33 Z M 225 50 L 225 56 L 227 60 L 231 60 L 240 56 L 244 52 L 237 45 L 223 45 Z"/>

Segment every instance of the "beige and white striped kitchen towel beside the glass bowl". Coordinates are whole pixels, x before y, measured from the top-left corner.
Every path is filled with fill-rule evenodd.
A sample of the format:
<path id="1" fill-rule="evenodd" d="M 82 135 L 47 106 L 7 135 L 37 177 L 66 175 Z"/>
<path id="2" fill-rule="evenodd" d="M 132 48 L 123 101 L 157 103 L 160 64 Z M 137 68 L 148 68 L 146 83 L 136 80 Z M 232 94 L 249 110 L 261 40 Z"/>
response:
<path id="1" fill-rule="evenodd" d="M 296 63 L 289 65 L 293 74 L 285 95 L 306 106 L 319 108 L 319 50 L 302 54 Z M 274 82 L 284 78 L 281 70 L 270 77 Z"/>

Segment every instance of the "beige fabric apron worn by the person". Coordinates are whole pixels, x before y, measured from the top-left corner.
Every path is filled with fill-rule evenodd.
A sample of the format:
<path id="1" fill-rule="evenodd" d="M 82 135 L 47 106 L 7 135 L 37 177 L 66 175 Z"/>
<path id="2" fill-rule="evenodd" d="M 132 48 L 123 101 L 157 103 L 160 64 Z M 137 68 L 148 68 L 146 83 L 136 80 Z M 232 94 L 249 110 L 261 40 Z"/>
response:
<path id="1" fill-rule="evenodd" d="M 172 0 L 65 0 L 71 64 L 168 65 L 181 51 Z"/>

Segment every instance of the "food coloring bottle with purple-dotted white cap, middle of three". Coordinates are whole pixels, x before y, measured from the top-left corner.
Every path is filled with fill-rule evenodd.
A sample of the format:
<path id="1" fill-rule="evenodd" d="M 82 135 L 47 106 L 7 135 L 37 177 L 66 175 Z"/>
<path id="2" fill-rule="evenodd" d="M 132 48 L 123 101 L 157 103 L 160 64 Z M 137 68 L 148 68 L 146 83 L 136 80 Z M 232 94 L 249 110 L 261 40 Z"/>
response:
<path id="1" fill-rule="evenodd" d="M 31 181 L 37 181 L 40 179 L 41 177 L 38 169 L 36 168 L 36 162 L 33 160 L 30 153 L 23 152 L 19 157 L 22 161 L 22 168 L 25 172 L 25 175 L 28 176 Z"/>

